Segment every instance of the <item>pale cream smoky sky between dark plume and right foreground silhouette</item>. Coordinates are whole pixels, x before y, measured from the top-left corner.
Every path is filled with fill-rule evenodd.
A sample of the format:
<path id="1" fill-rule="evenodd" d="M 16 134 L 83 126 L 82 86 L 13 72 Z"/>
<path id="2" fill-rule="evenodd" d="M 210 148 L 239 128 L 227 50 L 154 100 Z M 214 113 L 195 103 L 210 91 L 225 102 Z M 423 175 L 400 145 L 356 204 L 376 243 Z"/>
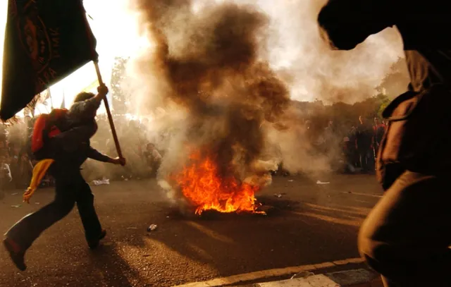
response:
<path id="1" fill-rule="evenodd" d="M 326 1 L 258 1 L 271 16 L 275 32 L 270 59 L 294 77 L 292 99 L 356 102 L 371 96 L 388 68 L 402 56 L 395 29 L 366 39 L 353 51 L 330 51 L 319 39 L 316 17 Z"/>

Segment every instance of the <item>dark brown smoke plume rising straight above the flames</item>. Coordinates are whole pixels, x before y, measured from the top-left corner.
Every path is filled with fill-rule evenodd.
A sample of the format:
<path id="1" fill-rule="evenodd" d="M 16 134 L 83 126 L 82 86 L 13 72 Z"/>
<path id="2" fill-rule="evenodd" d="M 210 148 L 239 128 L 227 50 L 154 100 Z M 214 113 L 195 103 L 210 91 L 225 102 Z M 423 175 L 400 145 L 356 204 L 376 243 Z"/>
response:
<path id="1" fill-rule="evenodd" d="M 276 123 L 290 101 L 283 81 L 259 58 L 268 17 L 234 3 L 197 12 L 189 0 L 136 5 L 154 43 L 152 53 L 134 65 L 140 92 L 147 94 L 140 106 L 163 108 L 156 122 L 173 127 L 160 175 L 176 172 L 188 154 L 200 150 L 224 176 L 262 184 L 268 178 L 268 166 L 260 161 L 262 124 Z"/>

